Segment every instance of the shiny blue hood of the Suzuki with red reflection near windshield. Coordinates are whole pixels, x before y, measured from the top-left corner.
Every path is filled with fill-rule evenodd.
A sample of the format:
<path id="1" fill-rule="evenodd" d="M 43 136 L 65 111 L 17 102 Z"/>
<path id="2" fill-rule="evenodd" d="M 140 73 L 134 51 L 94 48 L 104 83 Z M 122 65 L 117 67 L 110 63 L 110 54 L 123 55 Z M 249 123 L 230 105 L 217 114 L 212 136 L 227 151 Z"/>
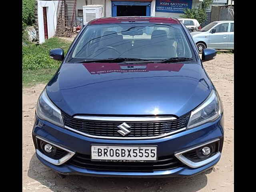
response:
<path id="1" fill-rule="evenodd" d="M 46 86 L 66 114 L 182 116 L 212 90 L 199 64 L 64 63 Z"/>

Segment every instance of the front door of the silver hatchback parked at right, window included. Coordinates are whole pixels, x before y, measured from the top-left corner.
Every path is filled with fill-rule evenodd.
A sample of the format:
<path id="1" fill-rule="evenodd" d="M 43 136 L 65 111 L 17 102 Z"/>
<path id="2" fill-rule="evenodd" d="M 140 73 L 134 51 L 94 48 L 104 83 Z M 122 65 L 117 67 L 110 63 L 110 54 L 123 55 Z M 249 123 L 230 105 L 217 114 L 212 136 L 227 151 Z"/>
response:
<path id="1" fill-rule="evenodd" d="M 216 49 L 226 49 L 228 48 L 228 25 L 229 22 L 220 23 L 210 30 L 209 34 L 209 46 L 208 48 Z M 216 32 L 212 33 L 212 30 L 215 29 Z"/>

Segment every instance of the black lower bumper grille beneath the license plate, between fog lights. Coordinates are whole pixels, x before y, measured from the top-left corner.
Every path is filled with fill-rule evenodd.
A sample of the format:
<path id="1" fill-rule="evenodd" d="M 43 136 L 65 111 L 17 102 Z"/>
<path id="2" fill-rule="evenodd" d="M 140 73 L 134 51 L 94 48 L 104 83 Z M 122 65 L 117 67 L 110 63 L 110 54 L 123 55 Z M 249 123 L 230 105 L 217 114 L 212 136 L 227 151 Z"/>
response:
<path id="1" fill-rule="evenodd" d="M 68 163 L 86 169 L 126 172 L 170 170 L 182 166 L 182 163 L 174 156 L 158 157 L 157 162 L 98 162 L 91 161 L 90 155 L 79 153 L 70 159 Z"/>

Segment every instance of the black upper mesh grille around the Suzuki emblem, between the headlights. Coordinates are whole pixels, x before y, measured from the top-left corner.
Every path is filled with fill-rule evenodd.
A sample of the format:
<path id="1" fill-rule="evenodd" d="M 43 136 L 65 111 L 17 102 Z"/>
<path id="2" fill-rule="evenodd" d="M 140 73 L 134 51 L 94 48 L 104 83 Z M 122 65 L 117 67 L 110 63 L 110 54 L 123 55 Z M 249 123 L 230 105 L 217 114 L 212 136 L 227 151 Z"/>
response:
<path id="1" fill-rule="evenodd" d="M 63 114 L 64 124 L 74 130 L 92 135 L 92 136 L 107 136 L 107 137 L 152 137 L 160 136 L 170 132 L 174 132 L 185 128 L 190 114 L 181 116 L 175 120 L 168 121 L 150 121 L 150 122 L 128 122 L 131 127 L 130 133 L 121 136 L 117 131 L 120 130 L 117 126 L 122 124 L 120 121 L 100 121 L 100 120 L 82 120 L 72 118 L 67 114 Z"/>

